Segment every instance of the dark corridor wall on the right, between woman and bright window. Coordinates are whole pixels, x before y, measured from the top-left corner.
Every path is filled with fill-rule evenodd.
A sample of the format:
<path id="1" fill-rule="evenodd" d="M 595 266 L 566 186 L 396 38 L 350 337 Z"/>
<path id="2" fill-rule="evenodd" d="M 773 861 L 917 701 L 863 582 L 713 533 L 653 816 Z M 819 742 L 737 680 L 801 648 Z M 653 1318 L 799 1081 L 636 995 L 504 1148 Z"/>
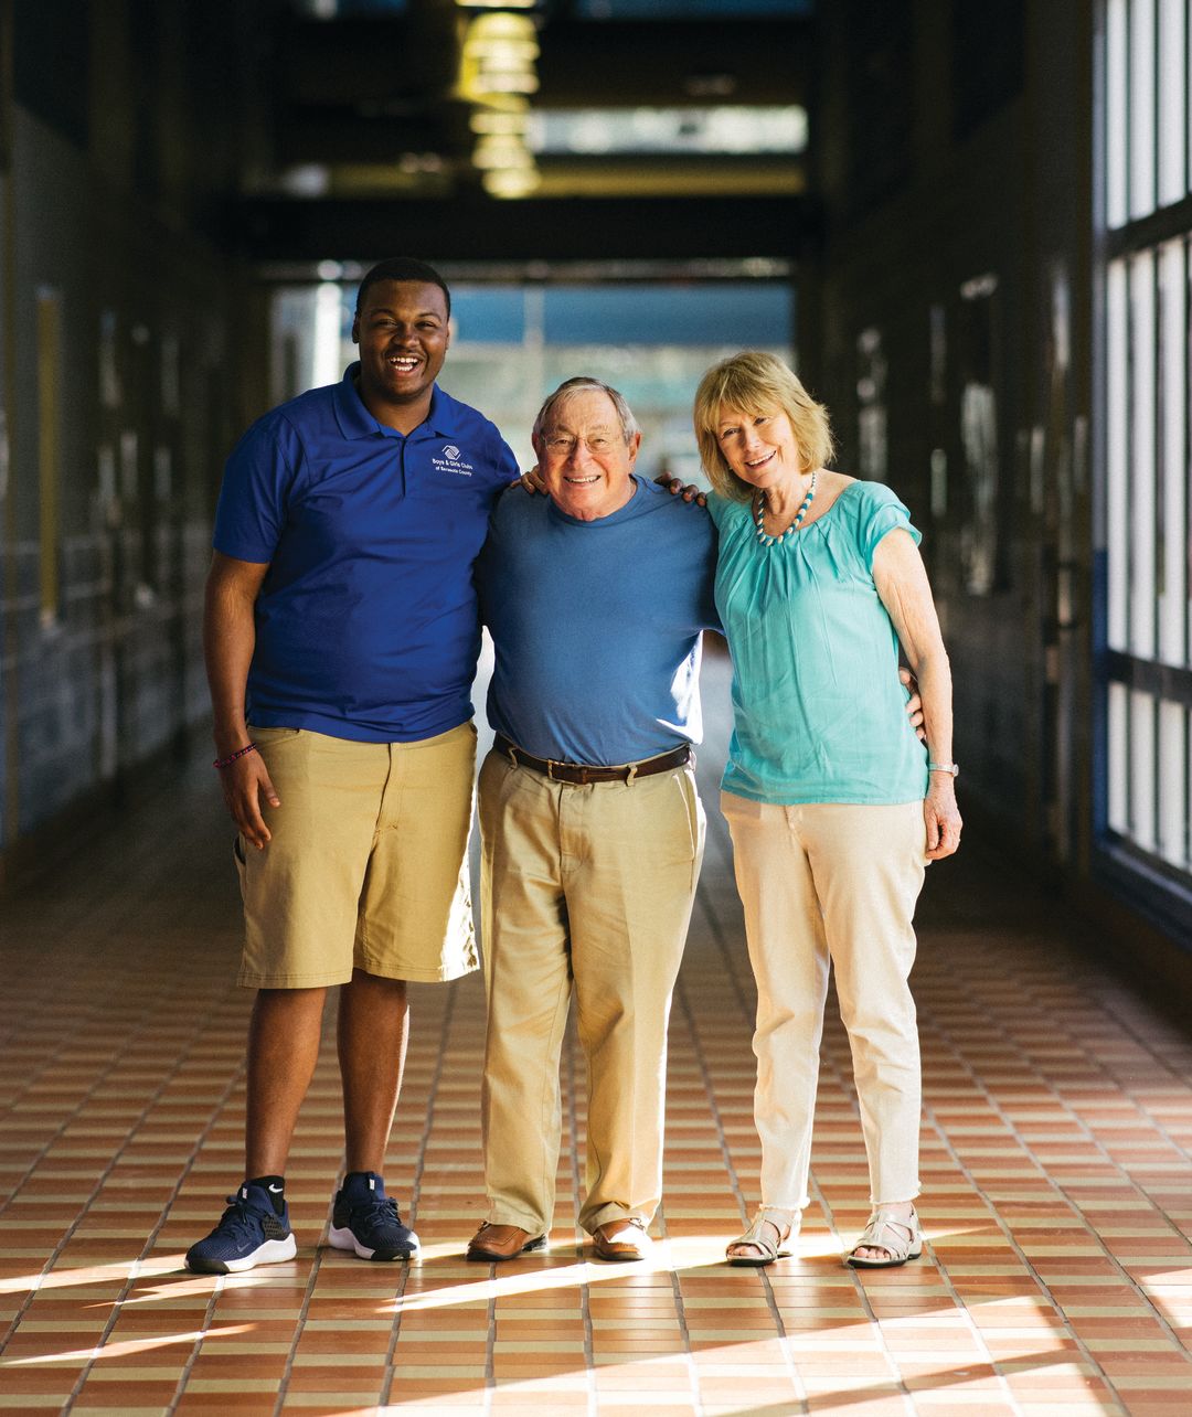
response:
<path id="1" fill-rule="evenodd" d="M 892 0 L 875 21 L 853 0 L 822 7 L 823 207 L 801 353 L 836 419 L 838 465 L 889 480 L 926 534 L 969 816 L 1130 948 L 1147 922 L 1178 954 L 1192 947 L 1185 758 L 1148 769 L 1183 774 L 1182 866 L 1145 860 L 1107 815 L 1114 4 L 1164 9 Z M 1165 10 L 1186 34 L 1186 6 Z M 1157 44 L 1132 54 L 1161 64 Z M 1127 449 L 1130 478 L 1152 475 L 1141 452 Z M 1185 978 L 1186 955 L 1171 962 Z"/>

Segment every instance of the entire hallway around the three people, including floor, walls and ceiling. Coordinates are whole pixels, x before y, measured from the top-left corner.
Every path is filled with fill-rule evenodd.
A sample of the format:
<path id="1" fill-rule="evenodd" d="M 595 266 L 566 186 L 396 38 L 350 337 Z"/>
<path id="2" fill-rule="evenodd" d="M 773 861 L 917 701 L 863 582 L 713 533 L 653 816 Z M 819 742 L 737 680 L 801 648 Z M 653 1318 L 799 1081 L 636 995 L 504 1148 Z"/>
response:
<path id="1" fill-rule="evenodd" d="M 1192 0 L 0 0 L 0 1407 L 1186 1414 L 1191 55 Z M 697 476 L 697 377 L 763 346 L 924 531 L 967 830 L 917 917 L 918 1264 L 840 1265 L 831 1007 L 797 1253 L 723 1263 L 760 1153 L 710 646 L 656 1261 L 573 1224 L 573 1039 L 551 1247 L 465 1263 L 473 975 L 414 990 L 386 1175 L 421 1260 L 325 1243 L 329 1029 L 298 1257 L 181 1268 L 251 1003 L 200 653 L 223 462 L 340 377 L 395 254 L 449 279 L 444 385 L 519 452 L 583 370 Z"/>

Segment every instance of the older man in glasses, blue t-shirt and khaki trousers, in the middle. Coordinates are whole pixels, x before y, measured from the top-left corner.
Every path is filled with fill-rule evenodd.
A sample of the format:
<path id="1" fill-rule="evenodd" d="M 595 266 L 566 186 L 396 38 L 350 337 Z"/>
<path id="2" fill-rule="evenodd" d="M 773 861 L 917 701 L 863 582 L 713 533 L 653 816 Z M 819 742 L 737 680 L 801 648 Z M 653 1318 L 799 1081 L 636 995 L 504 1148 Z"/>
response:
<path id="1" fill-rule="evenodd" d="M 480 771 L 488 1220 L 468 1254 L 544 1243 L 571 996 L 588 1060 L 587 1200 L 604 1260 L 638 1260 L 662 1187 L 670 993 L 703 856 L 692 743 L 717 623 L 707 514 L 634 473 L 624 398 L 568 380 L 534 449 L 550 497 L 500 497 L 476 563 L 496 646 Z"/>

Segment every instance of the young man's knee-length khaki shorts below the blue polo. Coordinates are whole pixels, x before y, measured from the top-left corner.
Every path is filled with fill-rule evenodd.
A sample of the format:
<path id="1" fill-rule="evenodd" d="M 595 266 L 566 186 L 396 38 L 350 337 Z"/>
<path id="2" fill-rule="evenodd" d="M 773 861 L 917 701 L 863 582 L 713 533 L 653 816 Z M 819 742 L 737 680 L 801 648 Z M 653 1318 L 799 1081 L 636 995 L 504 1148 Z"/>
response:
<path id="1" fill-rule="evenodd" d="M 346 983 L 353 968 L 435 982 L 475 969 L 475 726 L 418 743 L 251 734 L 282 805 L 264 809 L 264 852 L 235 840 L 240 983 L 309 989 Z"/>

